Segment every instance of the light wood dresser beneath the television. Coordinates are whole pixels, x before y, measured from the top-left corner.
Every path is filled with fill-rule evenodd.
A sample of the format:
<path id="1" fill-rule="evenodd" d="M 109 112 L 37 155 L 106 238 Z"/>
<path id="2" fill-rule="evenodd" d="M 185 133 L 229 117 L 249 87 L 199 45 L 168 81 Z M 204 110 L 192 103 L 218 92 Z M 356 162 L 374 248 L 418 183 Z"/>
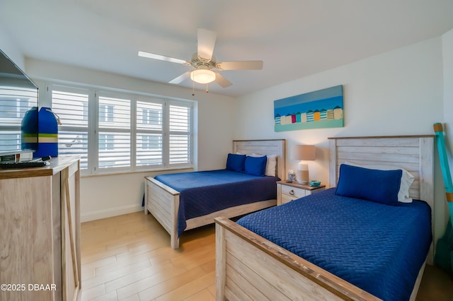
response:
<path id="1" fill-rule="evenodd" d="M 0 170 L 0 300 L 81 297 L 79 158 Z"/>

